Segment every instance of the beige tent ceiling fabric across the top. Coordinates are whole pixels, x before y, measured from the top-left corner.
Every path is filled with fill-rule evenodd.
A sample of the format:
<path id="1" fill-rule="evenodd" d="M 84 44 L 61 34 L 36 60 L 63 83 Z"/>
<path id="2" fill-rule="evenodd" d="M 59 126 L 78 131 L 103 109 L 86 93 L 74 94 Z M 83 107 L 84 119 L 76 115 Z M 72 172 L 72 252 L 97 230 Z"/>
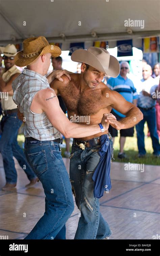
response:
<path id="1" fill-rule="evenodd" d="M 159 0 L 1 0 L 0 45 L 42 35 L 63 42 L 60 33 L 66 42 L 158 36 L 159 9 Z M 144 28 L 131 27 L 133 34 L 128 34 L 128 19 L 144 20 Z M 92 30 L 99 38 L 91 37 Z"/>

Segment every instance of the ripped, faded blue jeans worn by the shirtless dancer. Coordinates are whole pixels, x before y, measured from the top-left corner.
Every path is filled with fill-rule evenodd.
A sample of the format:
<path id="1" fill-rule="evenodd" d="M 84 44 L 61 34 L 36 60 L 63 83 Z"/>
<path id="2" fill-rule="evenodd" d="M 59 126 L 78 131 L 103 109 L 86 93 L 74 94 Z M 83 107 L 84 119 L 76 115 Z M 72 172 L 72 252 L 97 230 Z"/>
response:
<path id="1" fill-rule="evenodd" d="M 113 141 L 110 138 L 113 158 Z M 100 161 L 100 145 L 82 150 L 72 145 L 70 157 L 70 181 L 81 216 L 74 239 L 103 239 L 111 235 L 109 225 L 100 213 L 99 199 L 94 197 L 92 175 Z"/>

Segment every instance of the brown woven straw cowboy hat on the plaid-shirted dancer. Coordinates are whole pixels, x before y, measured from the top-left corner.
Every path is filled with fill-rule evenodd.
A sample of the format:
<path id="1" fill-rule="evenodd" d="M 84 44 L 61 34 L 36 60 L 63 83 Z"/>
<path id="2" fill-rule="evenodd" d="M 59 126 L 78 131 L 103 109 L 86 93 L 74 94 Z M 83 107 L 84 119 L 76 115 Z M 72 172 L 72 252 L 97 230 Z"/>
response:
<path id="1" fill-rule="evenodd" d="M 35 61 L 40 55 L 51 53 L 52 57 L 58 57 L 61 49 L 58 46 L 50 45 L 45 37 L 32 37 L 23 41 L 23 51 L 15 56 L 15 65 L 25 67 Z"/>

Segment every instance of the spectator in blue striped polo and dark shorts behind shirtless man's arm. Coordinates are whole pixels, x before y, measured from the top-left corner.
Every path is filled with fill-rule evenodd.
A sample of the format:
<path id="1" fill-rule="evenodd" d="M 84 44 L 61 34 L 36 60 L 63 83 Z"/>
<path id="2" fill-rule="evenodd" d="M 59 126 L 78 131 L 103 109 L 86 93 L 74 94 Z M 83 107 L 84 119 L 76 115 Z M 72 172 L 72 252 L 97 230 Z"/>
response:
<path id="1" fill-rule="evenodd" d="M 127 73 L 129 72 L 129 64 L 126 61 L 121 62 L 120 64 L 120 73 L 116 78 L 110 78 L 108 80 L 107 86 L 118 93 L 120 93 L 127 101 L 132 102 L 133 104 L 137 104 L 138 94 L 133 85 L 133 82 L 127 77 Z M 115 109 L 112 109 L 111 113 L 116 117 L 117 120 L 120 120 L 125 115 L 119 113 Z M 111 125 L 109 126 L 108 131 L 110 132 L 113 142 L 114 137 L 118 136 L 118 132 L 115 128 Z M 118 153 L 118 158 L 126 158 L 126 154 L 124 153 L 124 145 L 126 141 L 126 137 L 133 137 L 134 134 L 134 127 L 129 129 L 122 129 L 120 130 L 120 150 Z"/>

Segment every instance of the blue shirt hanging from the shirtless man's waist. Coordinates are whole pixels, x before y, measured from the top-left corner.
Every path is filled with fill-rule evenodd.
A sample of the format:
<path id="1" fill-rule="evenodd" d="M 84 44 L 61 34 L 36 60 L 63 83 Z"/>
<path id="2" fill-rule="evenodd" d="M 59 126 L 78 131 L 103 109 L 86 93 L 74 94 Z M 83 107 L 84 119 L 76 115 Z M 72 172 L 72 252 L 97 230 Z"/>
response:
<path id="1" fill-rule="evenodd" d="M 101 158 L 92 176 L 92 180 L 95 182 L 94 197 L 97 198 L 103 196 L 104 190 L 110 190 L 112 187 L 110 180 L 111 146 L 107 134 L 101 136 L 99 154 Z"/>

